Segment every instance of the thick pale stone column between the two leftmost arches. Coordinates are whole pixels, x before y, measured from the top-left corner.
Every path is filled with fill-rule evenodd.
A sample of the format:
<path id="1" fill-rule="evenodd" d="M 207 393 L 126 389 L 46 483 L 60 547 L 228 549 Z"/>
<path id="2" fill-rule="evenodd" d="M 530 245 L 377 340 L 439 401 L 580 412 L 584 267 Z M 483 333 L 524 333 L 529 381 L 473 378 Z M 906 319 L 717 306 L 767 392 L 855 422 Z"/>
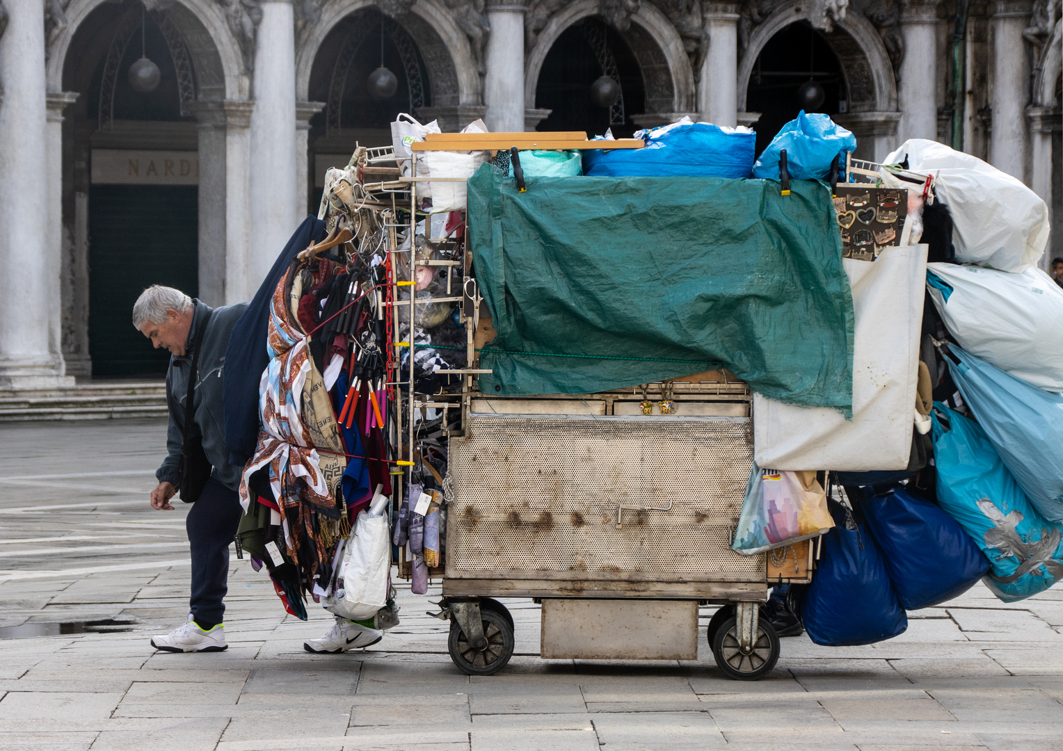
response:
<path id="1" fill-rule="evenodd" d="M 296 210 L 296 35 L 291 0 L 263 0 L 251 114 L 251 258 L 248 284 L 266 277 L 299 225 Z"/>

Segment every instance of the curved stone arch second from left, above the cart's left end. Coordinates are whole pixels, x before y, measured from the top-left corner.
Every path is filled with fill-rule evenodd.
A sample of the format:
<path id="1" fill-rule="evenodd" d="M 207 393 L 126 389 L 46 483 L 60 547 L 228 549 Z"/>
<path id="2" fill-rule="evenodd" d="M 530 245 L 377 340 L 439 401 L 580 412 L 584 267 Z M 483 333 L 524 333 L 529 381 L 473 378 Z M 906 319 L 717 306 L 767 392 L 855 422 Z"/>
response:
<path id="1" fill-rule="evenodd" d="M 325 37 L 342 19 L 365 7 L 381 10 L 373 0 L 339 0 L 322 8 L 321 19 L 296 50 L 296 97 L 309 97 L 310 71 Z M 394 19 L 417 42 L 428 68 L 432 105 L 478 104 L 480 81 L 469 39 L 450 11 L 437 0 L 419 0 L 410 12 Z"/>

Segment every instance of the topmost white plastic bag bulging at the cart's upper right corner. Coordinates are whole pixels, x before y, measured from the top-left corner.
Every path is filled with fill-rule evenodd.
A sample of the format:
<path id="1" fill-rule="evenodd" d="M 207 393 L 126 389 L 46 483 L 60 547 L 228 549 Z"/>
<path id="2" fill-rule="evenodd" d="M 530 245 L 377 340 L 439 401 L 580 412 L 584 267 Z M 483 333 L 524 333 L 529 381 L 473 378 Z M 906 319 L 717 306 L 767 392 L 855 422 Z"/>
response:
<path id="1" fill-rule="evenodd" d="M 938 199 L 952 217 L 958 261 L 1015 273 L 1036 266 L 1048 242 L 1048 206 L 1022 181 L 922 138 L 905 141 L 883 164 L 906 156 L 909 169 L 937 176 Z"/>

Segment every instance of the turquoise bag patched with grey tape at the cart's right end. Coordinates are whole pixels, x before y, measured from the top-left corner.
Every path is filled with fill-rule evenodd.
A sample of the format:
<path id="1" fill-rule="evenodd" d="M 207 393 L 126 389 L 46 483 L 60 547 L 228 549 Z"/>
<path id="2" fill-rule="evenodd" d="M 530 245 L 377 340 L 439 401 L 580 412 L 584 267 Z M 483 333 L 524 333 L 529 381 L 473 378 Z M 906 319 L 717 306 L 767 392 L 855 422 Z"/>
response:
<path id="1" fill-rule="evenodd" d="M 989 557 L 982 581 L 1005 602 L 1044 592 L 1063 578 L 1063 532 L 1041 517 L 977 423 L 940 402 L 934 408 L 938 505 Z"/>

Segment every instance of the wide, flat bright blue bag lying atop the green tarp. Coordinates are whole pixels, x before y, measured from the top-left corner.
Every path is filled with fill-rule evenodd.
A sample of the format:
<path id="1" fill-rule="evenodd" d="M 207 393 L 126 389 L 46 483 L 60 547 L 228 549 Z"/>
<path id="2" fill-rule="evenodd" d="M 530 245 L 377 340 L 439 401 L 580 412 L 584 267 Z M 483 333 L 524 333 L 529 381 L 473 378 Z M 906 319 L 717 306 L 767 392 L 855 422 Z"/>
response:
<path id="1" fill-rule="evenodd" d="M 584 152 L 584 174 L 606 177 L 748 177 L 757 134 L 707 122 L 655 127 L 642 149 Z"/>

